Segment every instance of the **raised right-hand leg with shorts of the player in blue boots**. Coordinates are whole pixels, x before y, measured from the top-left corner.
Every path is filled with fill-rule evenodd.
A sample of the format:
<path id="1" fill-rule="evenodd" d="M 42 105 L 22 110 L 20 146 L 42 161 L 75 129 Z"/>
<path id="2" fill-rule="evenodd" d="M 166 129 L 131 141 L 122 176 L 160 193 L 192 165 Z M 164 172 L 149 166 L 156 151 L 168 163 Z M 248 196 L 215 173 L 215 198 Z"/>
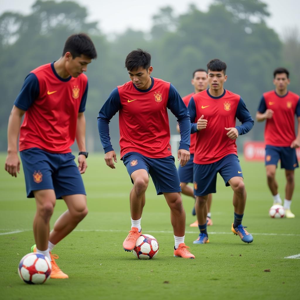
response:
<path id="1" fill-rule="evenodd" d="M 244 185 L 243 172 L 239 164 L 237 155 L 229 154 L 222 158 L 218 163 L 218 171 L 223 177 L 226 186 L 231 186 L 233 190 L 234 221 L 231 231 L 239 235 L 245 243 L 253 241 L 252 235 L 243 226 L 242 219 L 246 205 L 246 189 Z"/>

